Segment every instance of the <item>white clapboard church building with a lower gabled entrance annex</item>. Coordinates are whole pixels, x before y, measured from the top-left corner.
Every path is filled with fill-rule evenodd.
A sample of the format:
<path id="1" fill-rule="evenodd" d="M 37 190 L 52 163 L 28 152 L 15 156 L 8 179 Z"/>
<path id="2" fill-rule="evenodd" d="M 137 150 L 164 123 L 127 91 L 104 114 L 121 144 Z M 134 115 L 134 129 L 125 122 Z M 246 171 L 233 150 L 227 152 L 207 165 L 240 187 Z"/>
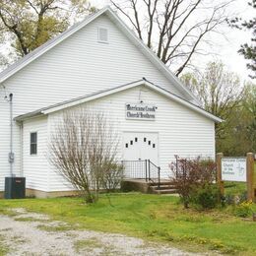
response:
<path id="1" fill-rule="evenodd" d="M 222 120 L 105 7 L 0 73 L 0 194 L 8 176 L 30 195 L 74 190 L 45 156 L 56 118 L 78 106 L 111 115 L 118 158 L 151 160 L 161 177 L 174 155 L 215 158 Z"/>

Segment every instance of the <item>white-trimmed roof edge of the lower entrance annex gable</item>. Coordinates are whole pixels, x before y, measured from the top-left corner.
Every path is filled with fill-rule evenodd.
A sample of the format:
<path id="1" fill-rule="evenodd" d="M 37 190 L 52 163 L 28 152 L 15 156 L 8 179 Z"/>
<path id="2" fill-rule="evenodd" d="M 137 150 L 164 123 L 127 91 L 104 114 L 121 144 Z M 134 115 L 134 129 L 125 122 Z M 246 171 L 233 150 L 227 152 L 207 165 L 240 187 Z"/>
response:
<path id="1" fill-rule="evenodd" d="M 180 96 L 176 96 L 174 94 L 169 93 L 168 91 L 160 88 L 159 86 L 147 81 L 145 78 L 142 79 L 142 80 L 139 80 L 139 81 L 132 82 L 130 84 L 126 84 L 126 85 L 123 85 L 123 86 L 120 86 L 120 87 L 112 88 L 110 90 L 100 91 L 100 92 L 97 92 L 96 94 L 92 94 L 92 95 L 89 95 L 89 96 L 81 96 L 81 97 L 74 98 L 74 99 L 71 99 L 71 100 L 67 100 L 67 101 L 64 101 L 64 102 L 60 102 L 60 103 L 57 103 L 57 104 L 54 104 L 54 105 L 50 105 L 48 107 L 43 107 L 43 108 L 38 109 L 36 111 L 33 111 L 31 113 L 27 113 L 27 114 L 24 114 L 24 115 L 21 115 L 21 116 L 17 116 L 15 118 L 15 120 L 16 121 L 24 121 L 28 118 L 36 117 L 36 116 L 39 116 L 39 115 L 50 114 L 50 113 L 60 111 L 60 110 L 63 110 L 63 109 L 66 109 L 66 108 L 69 108 L 69 107 L 72 107 L 72 106 L 76 106 L 76 105 L 79 105 L 79 104 L 82 104 L 82 103 L 92 101 L 92 100 L 100 98 L 100 97 L 109 96 L 109 95 L 116 94 L 116 93 L 119 93 L 119 92 L 122 92 L 122 91 L 125 91 L 125 90 L 128 90 L 128 89 L 136 88 L 138 86 L 145 86 L 145 87 L 153 90 L 154 92 L 157 92 L 162 96 L 166 96 L 168 99 L 171 99 L 171 100 L 173 100 L 173 101 L 175 101 L 175 102 L 177 102 L 181 105 L 184 105 L 184 106 L 186 106 L 186 107 L 204 115 L 205 117 L 207 117 L 207 118 L 209 118 L 209 119 L 211 119 L 215 122 L 222 122 L 223 121 L 221 118 L 207 112 L 203 108 L 201 108 L 201 107 L 183 99 Z"/>

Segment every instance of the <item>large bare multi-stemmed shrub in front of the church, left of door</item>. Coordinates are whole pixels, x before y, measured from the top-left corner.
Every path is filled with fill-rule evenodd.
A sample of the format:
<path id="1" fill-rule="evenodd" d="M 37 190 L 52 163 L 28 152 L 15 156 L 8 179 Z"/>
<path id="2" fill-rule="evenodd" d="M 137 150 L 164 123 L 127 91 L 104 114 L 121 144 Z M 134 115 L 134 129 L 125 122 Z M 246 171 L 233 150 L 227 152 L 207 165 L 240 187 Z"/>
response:
<path id="1" fill-rule="evenodd" d="M 120 171 L 115 176 L 120 181 L 117 134 L 102 112 L 85 109 L 65 112 L 55 129 L 49 145 L 50 162 L 87 203 L 96 202 L 111 170 Z"/>

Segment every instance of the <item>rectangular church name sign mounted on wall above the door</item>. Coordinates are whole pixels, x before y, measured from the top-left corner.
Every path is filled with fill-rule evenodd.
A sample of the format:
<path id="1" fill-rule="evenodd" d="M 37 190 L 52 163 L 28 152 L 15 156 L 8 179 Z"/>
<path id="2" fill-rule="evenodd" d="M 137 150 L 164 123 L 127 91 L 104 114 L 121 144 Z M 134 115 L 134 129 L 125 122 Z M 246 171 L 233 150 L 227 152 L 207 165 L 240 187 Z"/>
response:
<path id="1" fill-rule="evenodd" d="M 150 120 L 156 119 L 156 105 L 148 105 L 142 103 L 126 103 L 125 118 L 133 120 Z"/>

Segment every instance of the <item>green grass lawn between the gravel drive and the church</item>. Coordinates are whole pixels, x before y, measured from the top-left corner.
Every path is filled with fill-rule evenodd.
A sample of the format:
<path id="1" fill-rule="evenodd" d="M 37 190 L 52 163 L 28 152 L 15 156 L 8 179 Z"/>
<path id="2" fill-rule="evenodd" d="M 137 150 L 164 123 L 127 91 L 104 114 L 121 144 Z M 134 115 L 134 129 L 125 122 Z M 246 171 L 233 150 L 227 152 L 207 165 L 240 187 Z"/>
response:
<path id="1" fill-rule="evenodd" d="M 194 251 L 256 255 L 256 223 L 234 217 L 229 208 L 184 210 L 177 197 L 139 193 L 112 194 L 110 201 L 106 195 L 95 205 L 85 205 L 81 198 L 0 200 L 0 214 L 8 214 L 9 208 L 26 208 L 67 222 L 71 228 L 120 232 Z"/>

